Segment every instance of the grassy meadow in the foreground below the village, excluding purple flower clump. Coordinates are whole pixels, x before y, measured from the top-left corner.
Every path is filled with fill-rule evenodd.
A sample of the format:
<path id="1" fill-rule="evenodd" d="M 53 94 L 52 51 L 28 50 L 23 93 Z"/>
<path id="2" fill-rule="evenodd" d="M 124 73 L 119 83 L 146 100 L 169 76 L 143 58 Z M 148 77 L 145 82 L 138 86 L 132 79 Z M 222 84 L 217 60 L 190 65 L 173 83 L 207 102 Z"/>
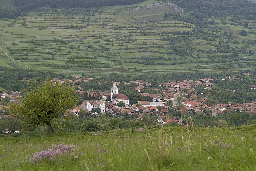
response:
<path id="1" fill-rule="evenodd" d="M 148 128 L 148 132 L 125 129 L 1 137 L 0 170 L 256 170 L 255 128 L 164 127 Z M 54 162 L 30 162 L 33 153 L 61 143 L 76 145 L 74 156 L 78 157 L 68 153 Z"/>

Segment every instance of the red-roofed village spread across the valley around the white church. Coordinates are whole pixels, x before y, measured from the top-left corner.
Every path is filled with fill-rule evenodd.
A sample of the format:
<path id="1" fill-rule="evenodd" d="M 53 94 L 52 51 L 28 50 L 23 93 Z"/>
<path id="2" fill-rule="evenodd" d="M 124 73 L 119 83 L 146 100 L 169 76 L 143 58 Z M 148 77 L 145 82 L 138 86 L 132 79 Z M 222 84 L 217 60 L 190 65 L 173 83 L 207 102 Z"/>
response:
<path id="1" fill-rule="evenodd" d="M 249 73 L 244 73 L 244 75 L 250 75 Z M 171 122 L 182 124 L 187 126 L 184 120 L 175 117 L 176 113 L 180 113 L 182 116 L 185 114 L 197 114 L 202 113 L 204 115 L 220 116 L 223 113 L 230 114 L 234 111 L 236 112 L 248 112 L 249 114 L 256 113 L 256 100 L 251 100 L 251 102 L 243 104 L 233 104 L 231 102 L 225 104 L 215 104 L 207 105 L 207 93 L 211 90 L 214 83 L 213 80 L 218 78 L 202 78 L 198 80 L 181 80 L 175 82 L 160 83 L 158 88 L 151 88 L 150 82 L 144 82 L 142 80 L 130 81 L 129 83 L 124 82 L 125 85 L 130 83 L 135 83 L 135 92 L 138 92 L 143 97 L 148 97 L 148 100 L 138 100 L 136 104 L 132 104 L 128 96 L 125 94 L 120 94 L 118 92 L 118 85 L 120 82 L 113 82 L 113 87 L 109 92 L 85 92 L 81 86 L 80 82 L 89 82 L 93 78 L 80 78 L 79 76 L 74 77 L 74 80 L 59 80 L 58 78 L 53 78 L 53 83 L 64 83 L 68 82 L 70 85 L 75 85 L 76 92 L 83 95 L 87 93 L 90 97 L 100 96 L 98 100 L 85 99 L 82 104 L 74 107 L 73 109 L 67 110 L 64 116 L 100 116 L 101 114 L 111 114 L 113 116 L 124 116 L 128 115 L 136 119 L 142 119 L 144 115 L 150 115 L 157 118 L 155 122 L 157 124 L 169 124 Z M 228 79 L 241 80 L 238 77 L 226 77 L 222 80 Z M 97 82 L 101 84 L 102 82 Z M 197 91 L 195 88 L 201 86 L 204 90 Z M 154 90 L 157 93 L 142 93 L 143 90 L 147 88 L 149 90 Z M 255 86 L 251 86 L 252 90 L 255 90 Z M 231 90 L 232 91 L 232 90 Z M 158 93 L 161 92 L 161 93 Z M 204 94 L 206 93 L 206 94 Z M 234 92 L 233 92 L 234 93 Z M 206 95 L 204 98 L 200 95 Z M 11 92 L 10 94 L 6 92 L 0 92 L 0 113 L 1 117 L 4 118 L 15 118 L 11 117 L 8 112 L 8 106 L 3 107 L 6 102 L 15 102 L 22 97 L 20 92 Z M 6 100 L 8 98 L 8 101 Z M 171 109 L 175 110 L 171 110 Z"/>

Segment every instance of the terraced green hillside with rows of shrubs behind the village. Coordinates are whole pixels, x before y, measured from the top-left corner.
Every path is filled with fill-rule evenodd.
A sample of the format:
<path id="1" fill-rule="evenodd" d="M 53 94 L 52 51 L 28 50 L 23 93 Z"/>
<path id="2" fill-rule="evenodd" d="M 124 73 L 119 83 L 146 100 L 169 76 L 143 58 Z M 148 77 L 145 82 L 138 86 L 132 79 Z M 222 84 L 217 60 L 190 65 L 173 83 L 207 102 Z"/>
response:
<path id="1" fill-rule="evenodd" d="M 177 39 L 177 34 L 174 34 L 175 31 L 186 32 L 193 28 L 202 29 L 209 35 L 232 33 L 231 40 L 238 43 L 226 44 L 238 50 L 249 40 L 255 40 L 254 34 L 240 36 L 238 32 L 255 32 L 255 26 L 251 29 L 237 26 L 227 16 L 216 20 L 219 23 L 210 25 L 211 28 L 199 28 L 184 21 L 166 20 L 165 13 L 175 13 L 166 7 L 142 8 L 132 12 L 136 7 L 145 7 L 153 2 L 157 1 L 101 7 L 94 16 L 88 15 L 89 9 L 37 9 L 18 20 L 0 20 L 0 46 L 16 62 L 27 67 L 72 75 L 101 75 L 111 72 L 125 75 L 167 74 L 176 71 L 217 72 L 226 68 L 255 68 L 255 45 L 246 48 L 247 51 L 255 51 L 255 55 L 237 51 L 239 58 L 235 60 L 235 57 L 212 58 L 207 55 L 232 54 L 209 53 L 209 50 L 217 49 L 214 44 L 226 42 L 227 39 L 210 36 L 216 37 L 215 40 L 204 40 L 197 35 L 182 34 Z M 186 13 L 182 15 L 189 16 Z M 12 26 L 8 27 L 12 22 Z M 243 22 L 248 22 L 248 26 L 255 24 L 253 20 Z M 181 45 L 177 49 L 185 48 L 191 54 L 170 54 L 169 51 L 175 44 Z M 193 50 L 189 50 L 191 48 Z M 1 62 L 0 66 L 6 66 L 5 63 Z"/>

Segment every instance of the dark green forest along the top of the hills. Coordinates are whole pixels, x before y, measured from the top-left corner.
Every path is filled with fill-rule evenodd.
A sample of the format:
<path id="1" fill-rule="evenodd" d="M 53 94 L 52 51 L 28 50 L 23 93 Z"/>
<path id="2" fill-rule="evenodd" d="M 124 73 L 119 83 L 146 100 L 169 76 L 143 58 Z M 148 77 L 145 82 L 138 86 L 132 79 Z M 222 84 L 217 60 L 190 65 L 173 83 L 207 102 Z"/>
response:
<path id="1" fill-rule="evenodd" d="M 41 7 L 90 8 L 114 5 L 132 5 L 145 0 L 1 0 L 0 18 L 16 18 Z M 216 18 L 221 15 L 242 16 L 247 20 L 256 18 L 254 0 L 162 0 L 177 4 L 197 19 Z M 253 2 L 254 3 L 253 3 Z M 241 18 L 240 18 L 241 19 Z M 234 20 L 237 20 L 234 18 Z"/>

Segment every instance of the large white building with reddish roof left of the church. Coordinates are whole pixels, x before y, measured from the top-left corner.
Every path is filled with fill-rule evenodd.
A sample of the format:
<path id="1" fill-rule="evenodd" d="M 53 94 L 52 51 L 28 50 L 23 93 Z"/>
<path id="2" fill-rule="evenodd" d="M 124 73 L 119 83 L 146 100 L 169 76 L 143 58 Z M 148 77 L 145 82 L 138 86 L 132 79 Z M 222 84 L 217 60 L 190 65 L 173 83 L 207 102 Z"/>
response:
<path id="1" fill-rule="evenodd" d="M 83 103 L 80 105 L 81 110 L 93 110 L 93 108 L 99 108 L 101 109 L 101 113 L 106 112 L 106 103 L 105 101 L 101 100 L 85 100 Z"/>

